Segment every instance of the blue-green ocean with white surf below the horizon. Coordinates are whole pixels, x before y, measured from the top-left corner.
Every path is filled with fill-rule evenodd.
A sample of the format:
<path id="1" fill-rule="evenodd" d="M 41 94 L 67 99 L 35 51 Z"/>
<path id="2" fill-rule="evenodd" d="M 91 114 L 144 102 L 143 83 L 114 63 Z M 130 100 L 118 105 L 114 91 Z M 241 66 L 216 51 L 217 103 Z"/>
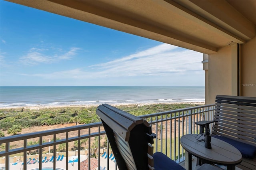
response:
<path id="1" fill-rule="evenodd" d="M 204 101 L 204 87 L 0 87 L 0 108 Z"/>

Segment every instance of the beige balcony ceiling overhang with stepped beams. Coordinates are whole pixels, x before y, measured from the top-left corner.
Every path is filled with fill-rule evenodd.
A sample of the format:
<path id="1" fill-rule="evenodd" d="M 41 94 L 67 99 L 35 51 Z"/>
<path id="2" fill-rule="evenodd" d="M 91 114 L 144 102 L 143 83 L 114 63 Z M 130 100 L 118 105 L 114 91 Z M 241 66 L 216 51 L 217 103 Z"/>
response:
<path id="1" fill-rule="evenodd" d="M 254 0 L 8 1 L 206 54 L 256 36 Z"/>

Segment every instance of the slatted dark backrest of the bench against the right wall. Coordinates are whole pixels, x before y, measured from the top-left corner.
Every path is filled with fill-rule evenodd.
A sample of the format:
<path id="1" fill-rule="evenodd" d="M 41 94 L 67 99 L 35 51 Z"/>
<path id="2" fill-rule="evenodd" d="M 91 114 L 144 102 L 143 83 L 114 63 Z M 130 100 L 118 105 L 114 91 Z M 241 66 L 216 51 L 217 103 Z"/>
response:
<path id="1" fill-rule="evenodd" d="M 216 96 L 212 134 L 256 146 L 256 97 Z"/>

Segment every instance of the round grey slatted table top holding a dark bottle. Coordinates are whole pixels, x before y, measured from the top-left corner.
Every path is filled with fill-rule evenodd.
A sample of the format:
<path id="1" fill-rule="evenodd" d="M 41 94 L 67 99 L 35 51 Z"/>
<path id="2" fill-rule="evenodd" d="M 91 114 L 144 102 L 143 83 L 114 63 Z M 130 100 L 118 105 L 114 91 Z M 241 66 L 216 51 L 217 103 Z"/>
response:
<path id="1" fill-rule="evenodd" d="M 242 161 L 242 154 L 231 144 L 212 138 L 212 149 L 208 149 L 204 147 L 204 141 L 196 140 L 196 135 L 186 134 L 180 138 L 181 146 L 190 154 L 220 165 L 236 165 Z"/>

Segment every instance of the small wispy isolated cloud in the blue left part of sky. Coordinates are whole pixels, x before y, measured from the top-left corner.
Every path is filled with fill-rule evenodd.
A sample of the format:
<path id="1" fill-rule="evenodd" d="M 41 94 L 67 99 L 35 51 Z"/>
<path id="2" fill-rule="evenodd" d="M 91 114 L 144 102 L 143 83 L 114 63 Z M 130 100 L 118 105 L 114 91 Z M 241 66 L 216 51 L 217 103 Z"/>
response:
<path id="1" fill-rule="evenodd" d="M 20 62 L 28 65 L 36 65 L 38 63 L 54 63 L 60 60 L 71 59 L 76 55 L 79 48 L 72 47 L 67 52 L 60 52 L 61 49 L 50 47 L 49 49 L 31 48 L 26 55 L 20 58 Z M 49 54 L 51 53 L 51 55 Z"/>

